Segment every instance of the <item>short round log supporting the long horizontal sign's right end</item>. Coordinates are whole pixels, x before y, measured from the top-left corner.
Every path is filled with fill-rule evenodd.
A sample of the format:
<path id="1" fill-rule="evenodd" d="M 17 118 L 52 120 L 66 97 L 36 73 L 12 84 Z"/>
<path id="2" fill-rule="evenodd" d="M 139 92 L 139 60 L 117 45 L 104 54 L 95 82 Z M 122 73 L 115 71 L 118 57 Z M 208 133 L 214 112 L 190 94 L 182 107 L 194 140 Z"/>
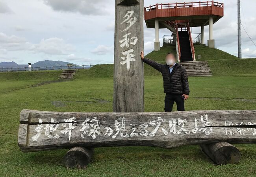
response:
<path id="1" fill-rule="evenodd" d="M 239 149 L 228 142 L 201 144 L 200 147 L 218 165 L 236 164 L 241 159 Z"/>

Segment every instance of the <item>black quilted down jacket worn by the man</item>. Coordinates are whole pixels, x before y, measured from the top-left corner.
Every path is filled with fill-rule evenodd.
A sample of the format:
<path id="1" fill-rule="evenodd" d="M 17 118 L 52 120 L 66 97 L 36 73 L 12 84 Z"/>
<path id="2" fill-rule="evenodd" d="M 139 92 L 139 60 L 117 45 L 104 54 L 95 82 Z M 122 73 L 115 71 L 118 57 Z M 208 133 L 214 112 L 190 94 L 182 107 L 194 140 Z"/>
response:
<path id="1" fill-rule="evenodd" d="M 160 64 L 145 57 L 143 62 L 162 73 L 164 93 L 189 95 L 187 71 L 184 66 L 176 63 L 173 67 L 172 73 L 170 74 L 169 66 L 167 64 Z"/>

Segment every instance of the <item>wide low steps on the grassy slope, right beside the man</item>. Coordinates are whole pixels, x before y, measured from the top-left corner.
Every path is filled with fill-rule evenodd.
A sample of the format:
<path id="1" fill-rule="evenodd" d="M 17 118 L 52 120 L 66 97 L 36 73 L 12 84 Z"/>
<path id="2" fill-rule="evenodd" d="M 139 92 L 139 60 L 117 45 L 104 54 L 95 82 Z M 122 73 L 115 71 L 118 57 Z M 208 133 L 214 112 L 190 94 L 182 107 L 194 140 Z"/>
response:
<path id="1" fill-rule="evenodd" d="M 208 61 L 180 62 L 187 70 L 187 76 L 212 76 Z"/>

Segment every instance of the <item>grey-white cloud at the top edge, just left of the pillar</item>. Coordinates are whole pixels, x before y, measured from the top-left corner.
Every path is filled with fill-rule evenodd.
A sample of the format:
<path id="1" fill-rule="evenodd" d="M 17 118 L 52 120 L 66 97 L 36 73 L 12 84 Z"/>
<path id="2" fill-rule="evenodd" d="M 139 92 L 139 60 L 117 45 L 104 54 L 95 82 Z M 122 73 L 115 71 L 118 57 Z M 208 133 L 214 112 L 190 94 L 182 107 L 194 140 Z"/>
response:
<path id="1" fill-rule="evenodd" d="M 43 0 L 56 11 L 79 12 L 83 15 L 106 15 L 110 0 Z"/>

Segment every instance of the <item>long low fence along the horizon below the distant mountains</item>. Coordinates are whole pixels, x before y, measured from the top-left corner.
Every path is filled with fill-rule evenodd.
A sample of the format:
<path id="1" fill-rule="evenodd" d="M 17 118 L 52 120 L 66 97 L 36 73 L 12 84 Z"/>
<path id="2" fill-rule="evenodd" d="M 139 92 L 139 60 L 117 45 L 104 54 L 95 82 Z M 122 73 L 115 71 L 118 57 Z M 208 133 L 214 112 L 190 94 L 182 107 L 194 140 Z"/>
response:
<path id="1" fill-rule="evenodd" d="M 74 66 L 38 66 L 31 67 L 32 71 L 42 70 L 65 70 L 65 69 L 89 69 L 94 65 L 74 65 Z M 0 72 L 17 72 L 17 71 L 28 71 L 28 67 L 11 67 L 11 68 L 0 68 Z"/>

